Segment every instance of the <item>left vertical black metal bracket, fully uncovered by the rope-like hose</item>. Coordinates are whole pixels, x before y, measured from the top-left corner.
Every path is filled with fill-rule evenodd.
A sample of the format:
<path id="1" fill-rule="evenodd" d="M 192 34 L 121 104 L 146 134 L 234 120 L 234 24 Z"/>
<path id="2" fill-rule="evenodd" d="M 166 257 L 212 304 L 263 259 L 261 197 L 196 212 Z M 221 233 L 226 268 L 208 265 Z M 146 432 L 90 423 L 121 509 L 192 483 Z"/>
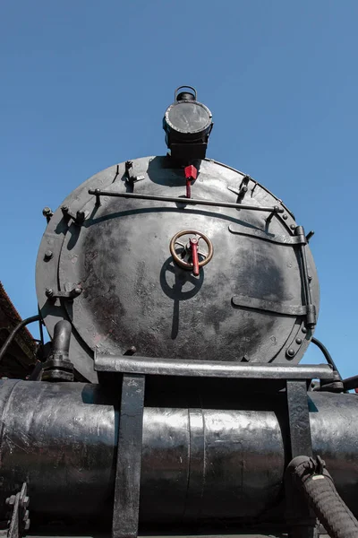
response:
<path id="1" fill-rule="evenodd" d="M 144 375 L 124 374 L 119 410 L 112 538 L 138 536 L 144 391 Z"/>

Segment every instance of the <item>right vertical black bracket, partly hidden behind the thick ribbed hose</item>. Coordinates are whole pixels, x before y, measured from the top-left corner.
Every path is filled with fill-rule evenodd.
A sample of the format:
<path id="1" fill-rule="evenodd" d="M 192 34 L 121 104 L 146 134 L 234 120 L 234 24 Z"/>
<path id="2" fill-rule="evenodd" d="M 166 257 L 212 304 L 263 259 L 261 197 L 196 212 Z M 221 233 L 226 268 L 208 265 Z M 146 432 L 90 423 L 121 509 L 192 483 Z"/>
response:
<path id="1" fill-rule="evenodd" d="M 307 382 L 286 381 L 288 425 L 291 440 L 291 459 L 312 456 L 310 412 Z M 311 508 L 294 488 L 291 477 L 286 476 L 286 519 L 290 538 L 318 538 L 316 517 Z"/>

